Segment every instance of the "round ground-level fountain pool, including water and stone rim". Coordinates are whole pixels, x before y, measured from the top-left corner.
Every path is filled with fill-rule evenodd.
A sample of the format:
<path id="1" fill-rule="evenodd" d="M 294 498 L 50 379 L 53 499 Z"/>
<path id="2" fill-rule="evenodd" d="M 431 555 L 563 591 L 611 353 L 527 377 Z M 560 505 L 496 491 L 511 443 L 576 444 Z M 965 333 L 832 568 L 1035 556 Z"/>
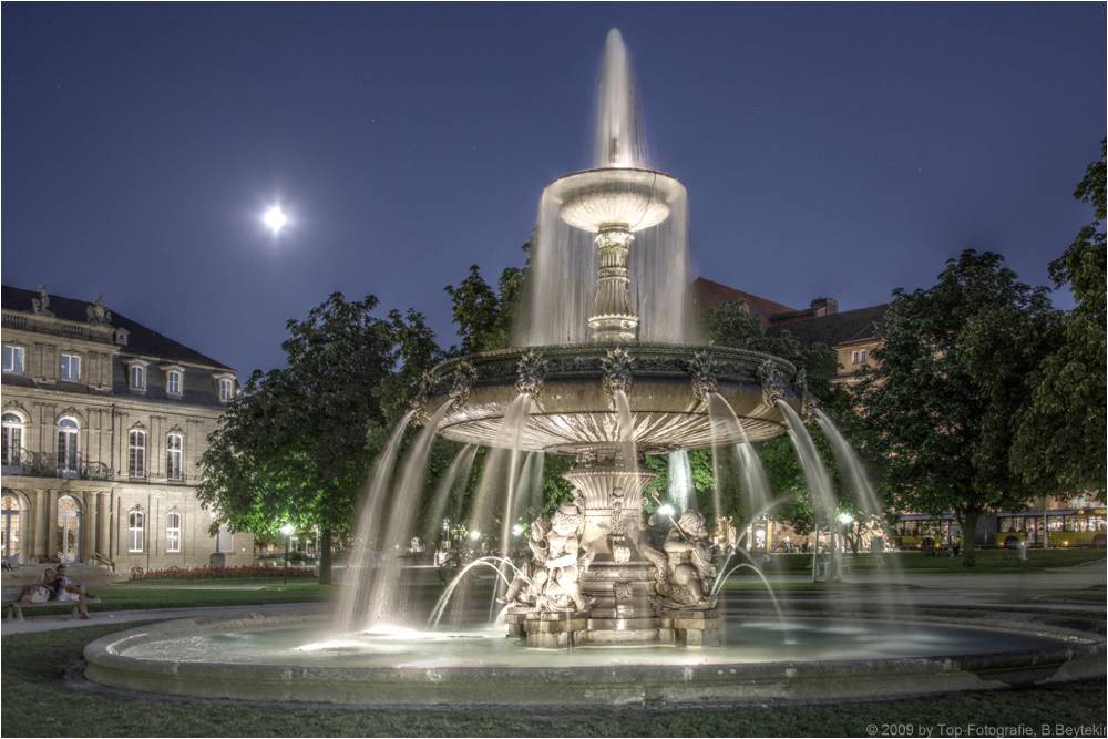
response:
<path id="1" fill-rule="evenodd" d="M 557 650 L 523 648 L 499 628 L 336 636 L 320 617 L 186 619 L 93 642 L 85 675 L 115 688 L 201 697 L 573 706 L 873 699 L 1105 674 L 1100 635 L 1026 614 L 989 627 L 945 614 L 944 623 L 783 624 L 732 615 L 722 647 Z"/>

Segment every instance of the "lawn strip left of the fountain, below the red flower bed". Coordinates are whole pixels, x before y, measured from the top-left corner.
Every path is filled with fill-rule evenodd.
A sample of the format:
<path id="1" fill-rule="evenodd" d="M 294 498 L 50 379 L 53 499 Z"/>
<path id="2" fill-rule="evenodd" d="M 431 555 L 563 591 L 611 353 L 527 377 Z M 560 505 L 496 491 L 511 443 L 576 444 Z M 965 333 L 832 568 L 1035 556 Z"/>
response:
<path id="1" fill-rule="evenodd" d="M 91 613 L 102 610 L 131 610 L 145 608 L 184 608 L 195 606 L 253 606 L 267 603 L 317 603 L 327 601 L 335 592 L 334 585 L 315 582 L 280 581 L 161 581 L 158 583 L 120 583 L 90 588 L 101 603 L 89 605 Z M 28 608 L 24 618 L 68 614 L 73 607 L 50 606 Z"/>

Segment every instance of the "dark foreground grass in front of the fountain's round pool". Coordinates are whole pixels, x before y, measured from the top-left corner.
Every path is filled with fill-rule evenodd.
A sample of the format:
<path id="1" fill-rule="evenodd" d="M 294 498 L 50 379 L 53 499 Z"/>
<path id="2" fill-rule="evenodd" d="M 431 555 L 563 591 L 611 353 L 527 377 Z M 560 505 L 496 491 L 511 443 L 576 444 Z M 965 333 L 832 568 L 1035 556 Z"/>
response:
<path id="1" fill-rule="evenodd" d="M 129 626 L 136 626 L 131 624 Z M 4 736 L 923 736 L 920 726 L 1101 727 L 1104 682 L 964 692 L 870 704 L 735 708 L 341 709 L 254 705 L 70 690 L 65 669 L 88 642 L 120 626 L 4 637 L 0 677 Z M 490 696 L 492 698 L 492 696 Z M 49 701 L 49 702 L 48 702 Z M 53 706 L 54 708 L 50 708 Z M 883 732 L 882 725 L 894 725 Z M 904 727 L 912 725 L 913 733 Z M 872 736 L 872 735 L 871 735 Z M 932 736 L 941 735 L 935 729 Z M 964 735 L 963 735 L 964 736 Z M 986 736 L 986 735 L 975 735 Z M 1068 735 L 1075 736 L 1075 735 Z M 1089 735 L 1094 736 L 1094 735 Z M 1102 736 L 1096 735 L 1096 736 Z"/>

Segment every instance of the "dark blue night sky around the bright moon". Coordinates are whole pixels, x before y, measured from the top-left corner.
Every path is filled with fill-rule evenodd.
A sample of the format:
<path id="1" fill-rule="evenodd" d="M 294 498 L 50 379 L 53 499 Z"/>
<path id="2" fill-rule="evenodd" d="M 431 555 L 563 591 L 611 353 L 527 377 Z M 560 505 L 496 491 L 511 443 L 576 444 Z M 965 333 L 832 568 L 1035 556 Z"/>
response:
<path id="1" fill-rule="evenodd" d="M 589 164 L 630 48 L 697 274 L 842 309 L 965 247 L 1027 281 L 1089 209 L 1105 6 L 3 6 L 6 284 L 93 299 L 239 368 L 332 290 L 424 311 L 521 260 Z M 296 224 L 259 226 L 279 198 Z M 1061 305 L 1068 297 L 1059 296 Z"/>

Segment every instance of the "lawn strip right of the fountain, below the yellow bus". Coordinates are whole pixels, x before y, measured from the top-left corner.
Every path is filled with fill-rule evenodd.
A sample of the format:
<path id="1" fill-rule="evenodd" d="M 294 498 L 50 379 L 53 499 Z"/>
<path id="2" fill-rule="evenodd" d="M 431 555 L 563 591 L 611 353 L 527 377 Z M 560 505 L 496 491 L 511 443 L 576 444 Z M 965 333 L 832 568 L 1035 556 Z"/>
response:
<path id="1" fill-rule="evenodd" d="M 924 552 L 890 552 L 888 554 L 848 555 L 847 564 L 852 572 L 882 572 L 890 566 L 897 566 L 911 573 L 966 573 L 998 574 L 1039 572 L 1050 567 L 1073 567 L 1089 562 L 1105 562 L 1105 550 L 1027 550 L 1027 562 L 1019 562 L 1015 550 L 977 550 L 977 564 L 974 567 L 963 567 L 962 557 L 946 556 L 940 553 L 931 556 Z M 882 566 L 884 565 L 884 566 Z M 766 574 L 800 574 L 812 571 L 811 554 L 774 554 L 769 557 Z M 749 576 L 739 571 L 736 576 Z"/>

